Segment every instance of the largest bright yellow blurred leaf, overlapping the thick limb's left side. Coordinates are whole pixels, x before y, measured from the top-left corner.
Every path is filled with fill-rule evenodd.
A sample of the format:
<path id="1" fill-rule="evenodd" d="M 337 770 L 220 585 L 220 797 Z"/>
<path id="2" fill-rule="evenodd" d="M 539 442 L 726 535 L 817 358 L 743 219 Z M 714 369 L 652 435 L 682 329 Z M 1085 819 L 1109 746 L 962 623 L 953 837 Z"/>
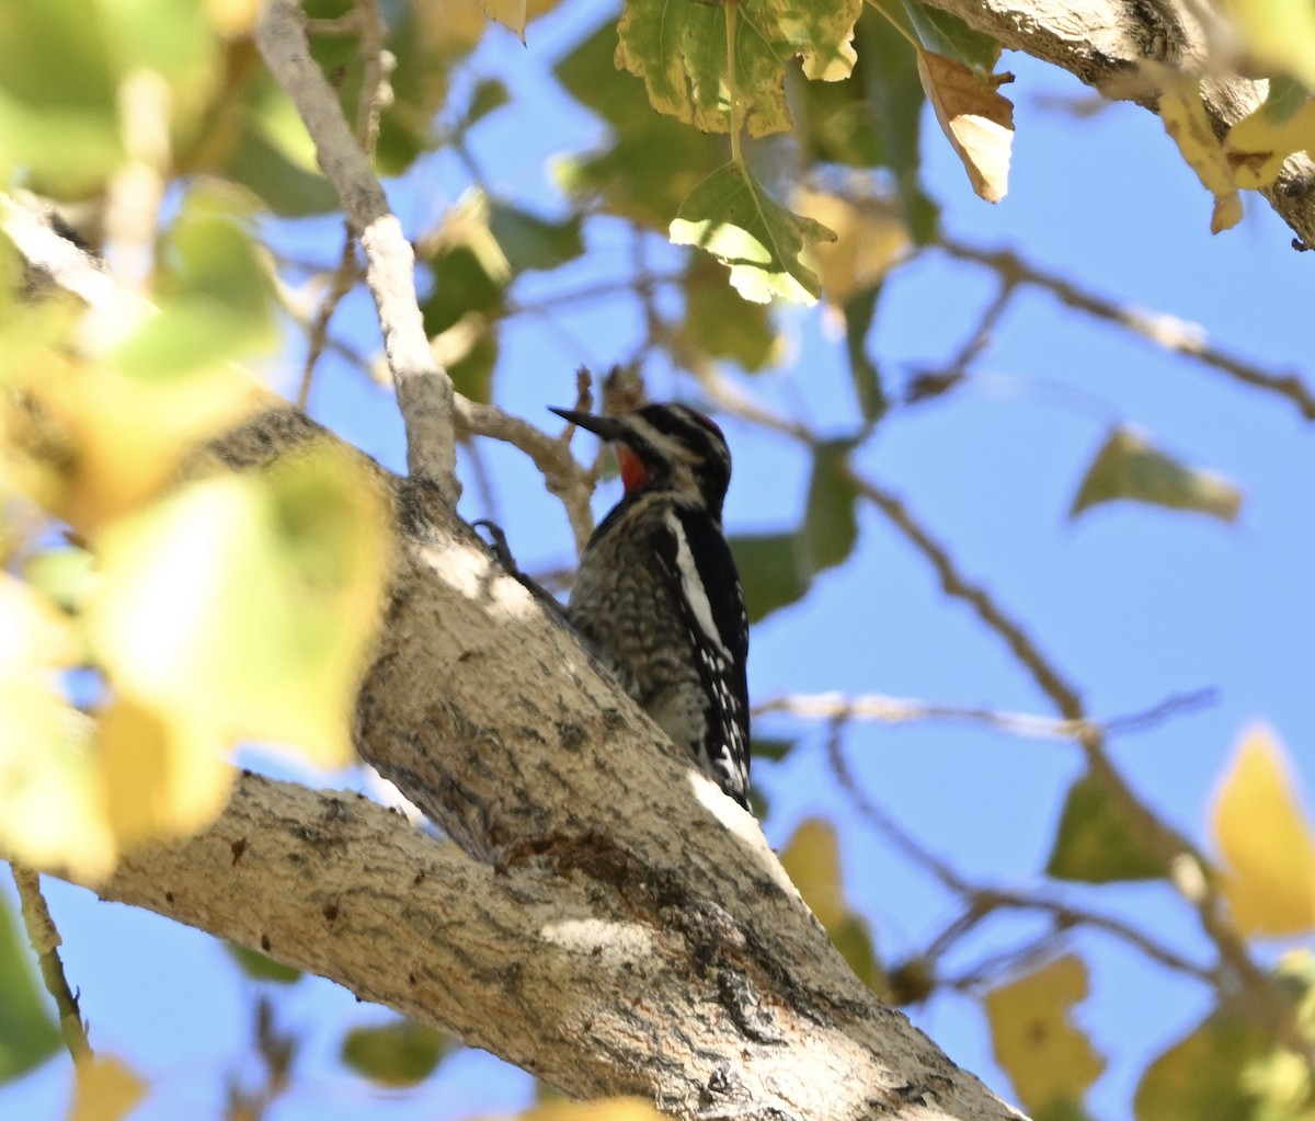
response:
<path id="1" fill-rule="evenodd" d="M 387 504 L 346 454 L 196 483 L 99 541 L 88 624 L 121 696 L 188 743 L 351 758 L 391 558 Z"/>

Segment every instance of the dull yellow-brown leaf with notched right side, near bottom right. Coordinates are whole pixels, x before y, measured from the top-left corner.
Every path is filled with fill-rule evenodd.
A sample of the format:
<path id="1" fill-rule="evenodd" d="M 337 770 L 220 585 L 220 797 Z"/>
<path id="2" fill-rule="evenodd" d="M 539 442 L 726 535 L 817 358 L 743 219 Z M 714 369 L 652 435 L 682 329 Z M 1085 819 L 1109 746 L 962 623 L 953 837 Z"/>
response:
<path id="1" fill-rule="evenodd" d="M 1069 1022 L 1086 992 L 1086 966 L 1069 954 L 986 993 L 995 1058 L 1030 1113 L 1081 1101 L 1105 1070 L 1105 1059 Z"/>

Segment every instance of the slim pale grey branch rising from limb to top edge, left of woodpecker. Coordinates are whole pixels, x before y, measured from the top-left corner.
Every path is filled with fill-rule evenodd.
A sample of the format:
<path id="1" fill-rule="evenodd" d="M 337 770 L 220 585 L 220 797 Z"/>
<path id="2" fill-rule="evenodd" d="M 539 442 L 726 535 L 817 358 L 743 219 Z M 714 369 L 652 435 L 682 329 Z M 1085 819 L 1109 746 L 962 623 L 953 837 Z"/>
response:
<path id="1" fill-rule="evenodd" d="M 316 158 L 342 200 L 366 254 L 366 283 L 379 309 L 384 353 L 406 422 L 406 466 L 456 504 L 452 382 L 429 346 L 416 299 L 416 255 L 388 208 L 384 188 L 360 149 L 331 87 L 310 57 L 296 0 L 271 0 L 256 28 L 266 64 L 288 91 L 316 143 Z"/>

